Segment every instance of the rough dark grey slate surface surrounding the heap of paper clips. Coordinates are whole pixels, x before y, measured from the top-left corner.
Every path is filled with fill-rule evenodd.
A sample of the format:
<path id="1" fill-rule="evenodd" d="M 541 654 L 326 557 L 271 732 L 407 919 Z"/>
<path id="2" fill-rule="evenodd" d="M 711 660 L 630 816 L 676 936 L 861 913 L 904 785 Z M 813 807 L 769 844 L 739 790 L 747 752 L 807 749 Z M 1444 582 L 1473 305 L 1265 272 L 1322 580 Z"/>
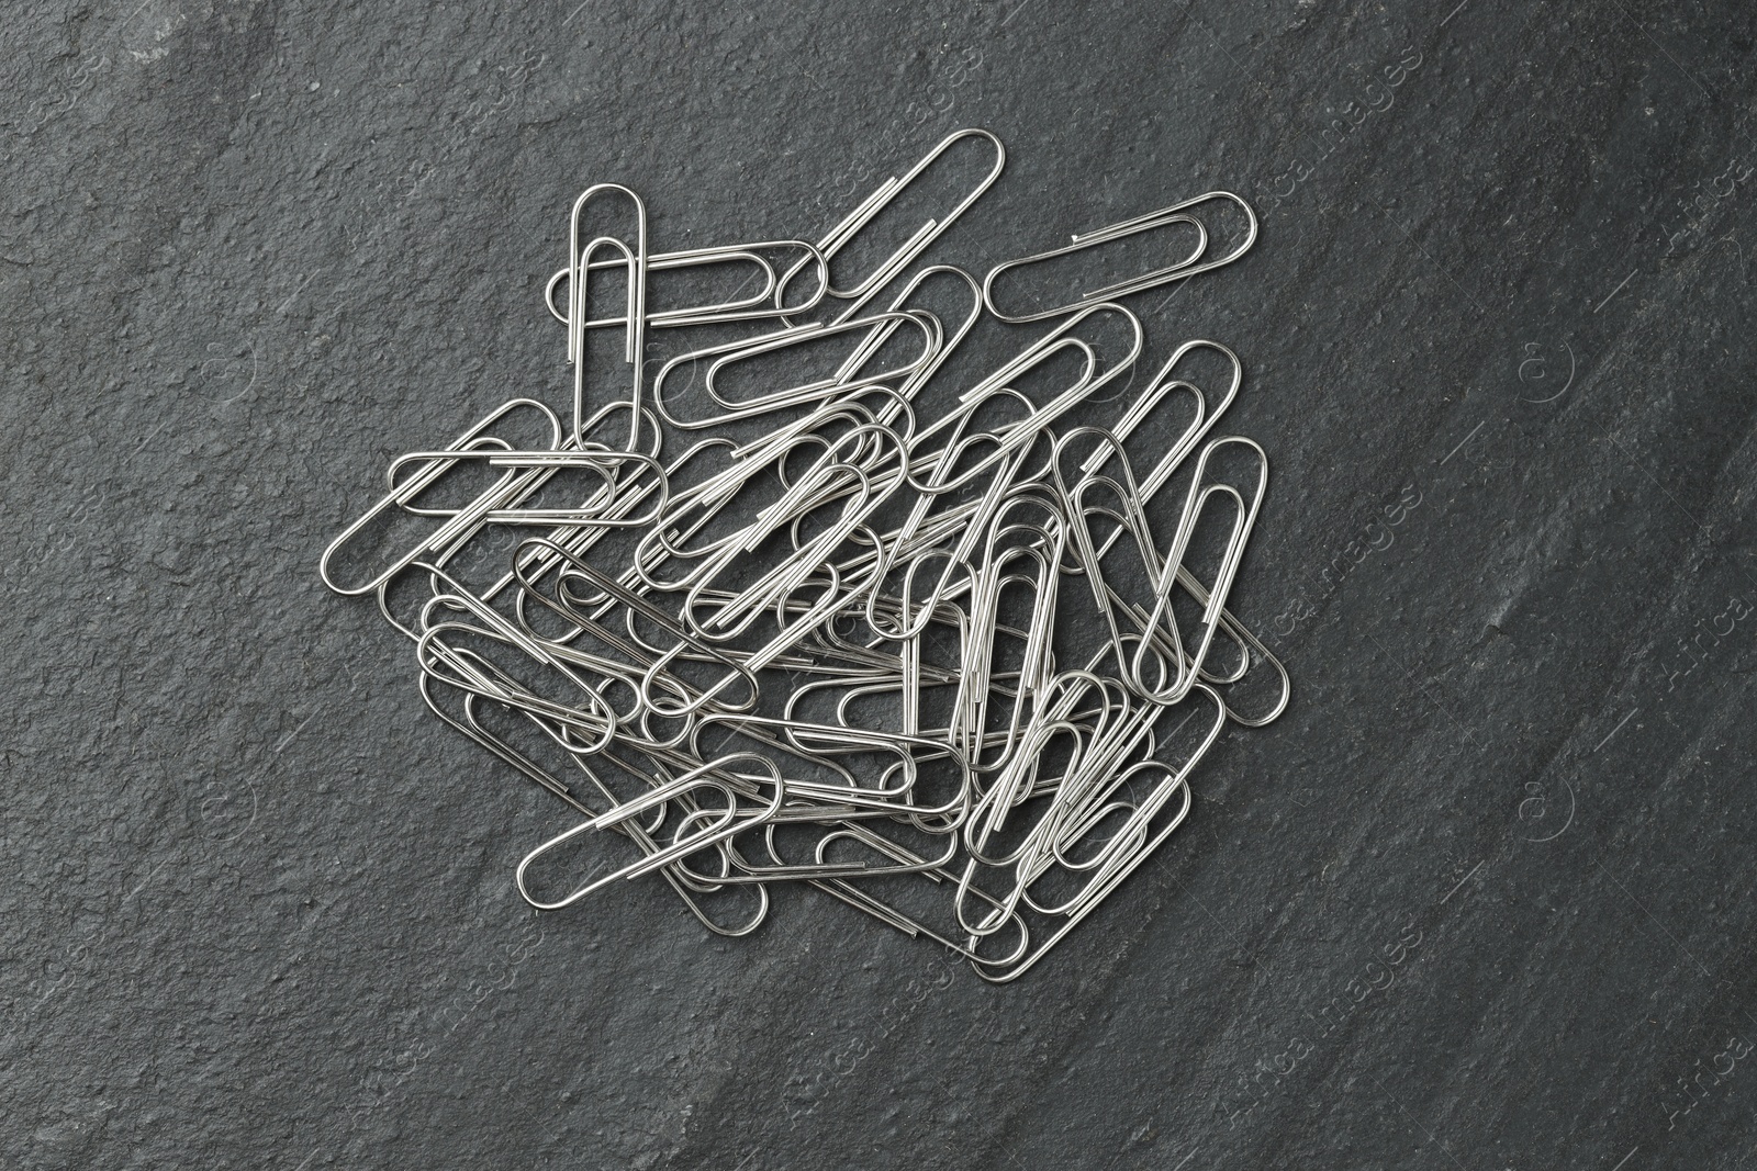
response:
<path id="1" fill-rule="evenodd" d="M 1743 1166 L 1753 21 L 12 5 L 0 1162 Z M 534 916 L 566 818 L 318 551 L 392 453 L 562 384 L 587 183 L 661 248 L 815 235 L 965 125 L 1012 162 L 949 260 L 1256 200 L 1246 262 L 1133 305 L 1247 362 L 1235 609 L 1293 708 L 1012 987 L 824 899 Z"/>

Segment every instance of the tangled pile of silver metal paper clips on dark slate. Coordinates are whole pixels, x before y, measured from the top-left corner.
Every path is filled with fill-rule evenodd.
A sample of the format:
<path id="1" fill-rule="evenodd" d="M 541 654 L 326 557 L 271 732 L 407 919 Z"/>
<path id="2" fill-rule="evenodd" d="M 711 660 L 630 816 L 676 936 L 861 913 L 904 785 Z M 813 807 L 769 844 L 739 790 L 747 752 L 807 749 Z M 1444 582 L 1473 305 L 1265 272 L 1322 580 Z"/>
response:
<path id="1" fill-rule="evenodd" d="M 838 288 L 952 149 L 993 167 Z M 1237 260 L 1254 214 L 1214 191 L 980 283 L 919 263 L 1003 162 L 954 133 L 815 244 L 657 253 L 633 191 L 587 190 L 545 290 L 571 411 L 513 399 L 401 456 L 323 553 L 413 639 L 434 713 L 583 816 L 518 864 L 534 906 L 655 873 L 740 936 L 791 883 L 1012 980 L 1179 827 L 1226 723 L 1286 708 L 1226 609 L 1269 483 L 1212 434 L 1242 367 L 1188 341 L 1144 377 L 1116 304 Z M 996 305 L 1001 277 L 1149 239 L 1170 263 Z M 655 307 L 729 276 L 761 288 Z M 954 376 L 979 323 L 1003 360 Z M 710 327 L 736 335 L 648 358 Z"/>

